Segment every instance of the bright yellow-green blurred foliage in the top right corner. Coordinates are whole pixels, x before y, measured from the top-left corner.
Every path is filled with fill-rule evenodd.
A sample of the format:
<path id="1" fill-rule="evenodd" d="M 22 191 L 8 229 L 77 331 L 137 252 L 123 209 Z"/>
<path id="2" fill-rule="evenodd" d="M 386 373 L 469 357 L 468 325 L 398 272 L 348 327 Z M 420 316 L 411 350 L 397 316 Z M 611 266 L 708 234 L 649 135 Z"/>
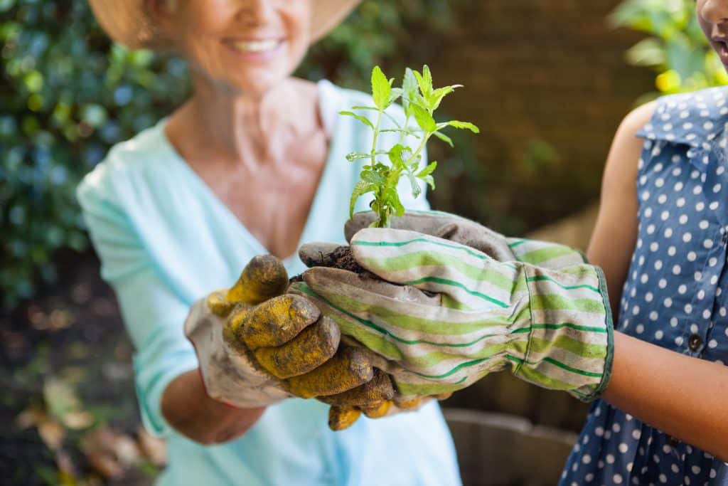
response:
<path id="1" fill-rule="evenodd" d="M 697 22 L 695 0 L 625 0 L 609 20 L 649 34 L 626 56 L 633 66 L 657 72 L 658 91 L 641 101 L 728 84 L 725 68 Z"/>

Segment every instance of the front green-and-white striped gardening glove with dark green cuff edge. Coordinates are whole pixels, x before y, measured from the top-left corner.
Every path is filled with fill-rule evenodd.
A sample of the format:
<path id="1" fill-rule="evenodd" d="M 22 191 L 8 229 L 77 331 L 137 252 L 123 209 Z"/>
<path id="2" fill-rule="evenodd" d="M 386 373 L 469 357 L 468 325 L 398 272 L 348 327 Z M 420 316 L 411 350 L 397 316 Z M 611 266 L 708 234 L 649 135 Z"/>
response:
<path id="1" fill-rule="evenodd" d="M 360 230 L 351 249 L 374 275 L 313 267 L 297 289 L 381 358 L 399 399 L 456 391 L 507 363 L 585 401 L 606 388 L 612 318 L 598 267 L 499 262 L 407 230 Z"/>

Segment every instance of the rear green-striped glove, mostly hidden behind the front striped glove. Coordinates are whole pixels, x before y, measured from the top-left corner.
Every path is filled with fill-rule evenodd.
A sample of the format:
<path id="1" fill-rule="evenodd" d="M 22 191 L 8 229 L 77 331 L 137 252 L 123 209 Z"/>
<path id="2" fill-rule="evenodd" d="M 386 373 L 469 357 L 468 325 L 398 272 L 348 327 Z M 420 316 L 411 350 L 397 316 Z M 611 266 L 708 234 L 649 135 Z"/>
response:
<path id="1" fill-rule="evenodd" d="M 370 227 L 376 219 L 373 211 L 356 213 L 344 225 L 347 241 L 359 230 Z M 506 238 L 470 219 L 441 211 L 407 211 L 403 216 L 392 216 L 389 222 L 397 230 L 411 230 L 462 243 L 500 262 L 518 261 L 545 268 L 587 263 L 581 252 L 569 246 L 526 238 Z"/>

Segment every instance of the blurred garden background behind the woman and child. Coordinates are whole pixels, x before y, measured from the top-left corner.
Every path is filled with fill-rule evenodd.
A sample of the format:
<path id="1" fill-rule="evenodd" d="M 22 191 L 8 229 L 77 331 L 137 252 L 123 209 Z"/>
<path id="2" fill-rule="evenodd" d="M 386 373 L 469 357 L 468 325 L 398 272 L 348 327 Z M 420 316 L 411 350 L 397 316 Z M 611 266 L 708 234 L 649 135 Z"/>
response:
<path id="1" fill-rule="evenodd" d="M 399 78 L 427 63 L 437 85 L 465 85 L 442 111 L 482 133 L 454 151 L 432 144 L 433 207 L 585 248 L 620 119 L 657 95 L 728 82 L 694 5 L 367 0 L 299 74 L 366 90 L 374 64 Z M 74 188 L 112 144 L 173 111 L 186 68 L 110 44 L 83 0 L 0 0 L 0 49 L 0 478 L 149 484 L 164 444 L 139 426 L 132 348 Z M 444 405 L 470 410 L 448 419 L 471 484 L 555 484 L 585 417 L 507 374 Z M 508 469 L 534 450 L 531 470 Z"/>

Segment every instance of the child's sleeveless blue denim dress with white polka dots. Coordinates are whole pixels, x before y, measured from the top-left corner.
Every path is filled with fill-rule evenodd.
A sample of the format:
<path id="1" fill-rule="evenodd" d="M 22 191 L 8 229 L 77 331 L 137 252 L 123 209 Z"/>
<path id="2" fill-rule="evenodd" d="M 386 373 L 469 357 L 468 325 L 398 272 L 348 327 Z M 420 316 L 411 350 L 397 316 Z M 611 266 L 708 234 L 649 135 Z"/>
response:
<path id="1" fill-rule="evenodd" d="M 728 364 L 727 103 L 728 87 L 668 96 L 638 133 L 638 240 L 617 324 L 720 364 Z M 560 484 L 728 485 L 728 464 L 598 400 Z"/>

